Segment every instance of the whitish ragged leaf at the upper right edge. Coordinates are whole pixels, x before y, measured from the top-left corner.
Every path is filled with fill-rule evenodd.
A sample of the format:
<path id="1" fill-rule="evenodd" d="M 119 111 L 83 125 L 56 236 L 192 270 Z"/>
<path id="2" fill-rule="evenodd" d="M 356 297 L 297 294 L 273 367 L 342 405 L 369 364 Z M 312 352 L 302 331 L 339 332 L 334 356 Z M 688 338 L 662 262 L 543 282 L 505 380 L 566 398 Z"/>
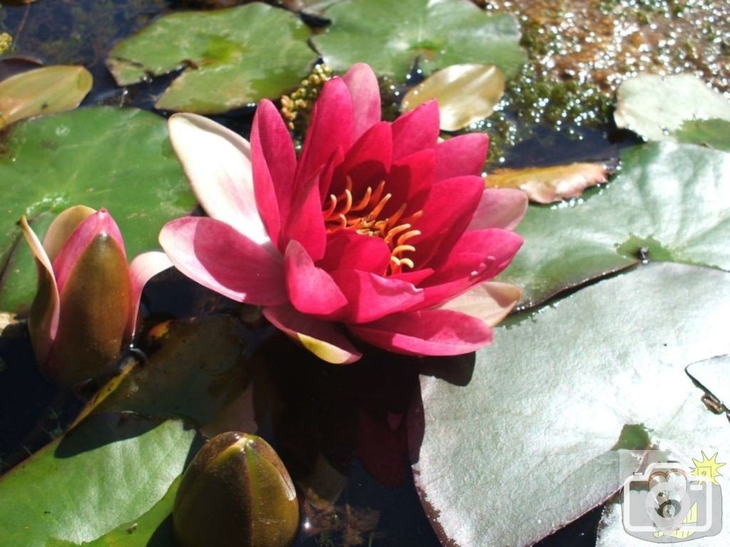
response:
<path id="1" fill-rule="evenodd" d="M 622 83 L 617 96 L 616 125 L 647 140 L 676 140 L 686 121 L 730 121 L 730 102 L 692 74 L 640 74 Z"/>

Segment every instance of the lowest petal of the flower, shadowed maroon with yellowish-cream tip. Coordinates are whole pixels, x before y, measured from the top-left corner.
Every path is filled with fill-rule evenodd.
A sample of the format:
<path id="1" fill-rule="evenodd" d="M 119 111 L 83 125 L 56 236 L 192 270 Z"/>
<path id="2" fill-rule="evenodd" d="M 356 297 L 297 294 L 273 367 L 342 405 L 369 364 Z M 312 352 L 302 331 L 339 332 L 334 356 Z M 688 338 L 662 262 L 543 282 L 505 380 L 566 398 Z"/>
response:
<path id="1" fill-rule="evenodd" d="M 362 357 L 334 324 L 318 321 L 291 305 L 265 307 L 264 316 L 296 343 L 332 364 L 348 364 Z"/>

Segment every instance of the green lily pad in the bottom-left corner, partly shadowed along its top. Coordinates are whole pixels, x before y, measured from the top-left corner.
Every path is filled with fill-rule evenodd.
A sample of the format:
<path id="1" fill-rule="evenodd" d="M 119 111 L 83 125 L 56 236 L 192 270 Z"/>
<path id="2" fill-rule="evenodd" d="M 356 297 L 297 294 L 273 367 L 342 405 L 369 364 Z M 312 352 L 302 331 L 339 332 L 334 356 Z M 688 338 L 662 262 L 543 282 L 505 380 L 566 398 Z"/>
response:
<path id="1" fill-rule="evenodd" d="M 0 543 L 83 543 L 144 515 L 183 472 L 195 437 L 180 421 L 91 416 L 0 481 Z"/>

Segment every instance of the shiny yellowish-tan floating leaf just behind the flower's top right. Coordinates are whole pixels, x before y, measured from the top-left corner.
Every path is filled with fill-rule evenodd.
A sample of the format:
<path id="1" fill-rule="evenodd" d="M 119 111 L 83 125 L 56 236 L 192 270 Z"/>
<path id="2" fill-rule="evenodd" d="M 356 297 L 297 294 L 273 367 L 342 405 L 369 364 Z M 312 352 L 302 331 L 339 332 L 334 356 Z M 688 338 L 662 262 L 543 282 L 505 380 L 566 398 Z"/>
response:
<path id="1" fill-rule="evenodd" d="M 430 99 L 439 102 L 441 129 L 457 131 L 487 118 L 504 93 L 504 74 L 488 64 L 455 64 L 434 72 L 401 102 L 408 112 Z"/>

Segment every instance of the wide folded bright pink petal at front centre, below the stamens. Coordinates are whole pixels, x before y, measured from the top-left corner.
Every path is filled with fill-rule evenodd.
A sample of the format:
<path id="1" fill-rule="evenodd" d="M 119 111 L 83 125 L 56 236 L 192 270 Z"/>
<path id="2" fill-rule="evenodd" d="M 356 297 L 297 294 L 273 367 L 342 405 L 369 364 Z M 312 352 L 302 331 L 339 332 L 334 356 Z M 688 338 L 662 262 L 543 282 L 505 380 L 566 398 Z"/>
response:
<path id="1" fill-rule="evenodd" d="M 423 289 L 407 281 L 355 269 L 339 269 L 331 275 L 350 301 L 347 321 L 353 323 L 369 323 L 423 301 Z"/>

